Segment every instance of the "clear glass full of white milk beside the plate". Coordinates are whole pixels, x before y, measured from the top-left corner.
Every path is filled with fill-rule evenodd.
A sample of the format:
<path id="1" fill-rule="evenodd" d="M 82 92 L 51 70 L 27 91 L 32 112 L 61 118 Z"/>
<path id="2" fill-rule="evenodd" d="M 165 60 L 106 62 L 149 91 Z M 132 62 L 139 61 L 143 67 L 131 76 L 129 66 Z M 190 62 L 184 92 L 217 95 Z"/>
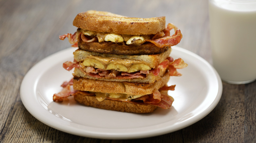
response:
<path id="1" fill-rule="evenodd" d="M 222 80 L 256 79 L 256 0 L 209 0 L 213 67 Z"/>

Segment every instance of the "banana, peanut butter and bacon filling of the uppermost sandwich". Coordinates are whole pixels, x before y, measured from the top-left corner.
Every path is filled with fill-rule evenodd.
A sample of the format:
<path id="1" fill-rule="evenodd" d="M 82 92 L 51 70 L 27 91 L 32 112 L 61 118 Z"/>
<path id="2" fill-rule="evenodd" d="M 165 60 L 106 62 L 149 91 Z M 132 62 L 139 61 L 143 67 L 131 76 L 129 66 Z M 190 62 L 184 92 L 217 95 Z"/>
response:
<path id="1" fill-rule="evenodd" d="M 175 33 L 170 36 L 170 30 L 174 29 Z M 90 36 L 89 36 L 90 35 Z M 102 33 L 96 31 L 88 31 L 85 29 L 78 28 L 74 34 L 64 34 L 59 36 L 60 40 L 64 40 L 68 38 L 71 44 L 74 44 L 73 47 L 77 47 L 77 42 L 84 41 L 84 42 L 103 42 L 103 41 L 110 41 L 110 42 L 125 42 L 126 44 L 134 44 L 134 45 L 141 45 L 145 42 L 151 42 L 155 44 L 159 48 L 163 48 L 166 46 L 174 46 L 177 45 L 181 39 L 182 34 L 181 30 L 178 29 L 173 24 L 167 24 L 167 27 L 162 30 L 161 32 L 155 35 L 121 35 L 115 33 Z"/>

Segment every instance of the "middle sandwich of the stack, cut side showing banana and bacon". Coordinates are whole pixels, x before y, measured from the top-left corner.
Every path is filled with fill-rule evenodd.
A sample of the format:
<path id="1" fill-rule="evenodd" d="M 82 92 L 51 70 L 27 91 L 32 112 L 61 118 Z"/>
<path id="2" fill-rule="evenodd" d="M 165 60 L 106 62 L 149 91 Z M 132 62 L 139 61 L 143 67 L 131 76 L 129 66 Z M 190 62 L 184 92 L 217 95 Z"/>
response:
<path id="1" fill-rule="evenodd" d="M 157 55 L 113 55 L 76 50 L 74 62 L 63 63 L 70 71 L 75 68 L 74 76 L 107 81 L 130 81 L 154 83 L 166 72 L 170 76 L 180 76 L 176 69 L 187 66 L 181 58 L 169 57 L 171 48 Z M 148 76 L 150 75 L 150 76 Z M 131 81 L 133 79 L 133 81 Z M 136 80 L 135 80 L 136 79 Z M 143 79 L 143 80 L 137 80 Z"/>

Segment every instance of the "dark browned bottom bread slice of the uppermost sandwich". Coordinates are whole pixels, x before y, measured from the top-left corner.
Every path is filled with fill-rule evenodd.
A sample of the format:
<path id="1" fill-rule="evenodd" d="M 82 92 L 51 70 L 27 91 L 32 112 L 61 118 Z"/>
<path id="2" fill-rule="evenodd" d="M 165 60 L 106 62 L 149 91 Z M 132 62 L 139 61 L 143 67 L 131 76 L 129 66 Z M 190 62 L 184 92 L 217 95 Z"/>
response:
<path id="1" fill-rule="evenodd" d="M 104 54 L 116 55 L 153 55 L 163 53 L 168 47 L 159 48 L 153 43 L 144 43 L 141 45 L 125 45 L 113 42 L 78 42 L 79 49 Z"/>

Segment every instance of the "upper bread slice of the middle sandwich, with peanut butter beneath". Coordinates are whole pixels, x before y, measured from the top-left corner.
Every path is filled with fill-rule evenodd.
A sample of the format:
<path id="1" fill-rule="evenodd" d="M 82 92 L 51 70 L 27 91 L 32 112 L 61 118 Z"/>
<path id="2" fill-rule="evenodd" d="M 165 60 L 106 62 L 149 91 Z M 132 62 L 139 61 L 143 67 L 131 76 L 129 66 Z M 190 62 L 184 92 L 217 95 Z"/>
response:
<path id="1" fill-rule="evenodd" d="M 135 63 L 143 63 L 150 68 L 156 68 L 162 61 L 164 61 L 171 53 L 171 48 L 169 48 L 164 53 L 154 54 L 154 55 L 115 55 L 115 54 L 101 54 L 88 52 L 81 49 L 77 49 L 73 55 L 74 59 L 77 62 L 82 62 L 88 58 L 94 58 L 97 61 L 100 61 L 104 66 L 109 63 L 119 63 L 119 64 L 135 64 Z M 103 69 L 105 70 L 105 69 Z"/>

